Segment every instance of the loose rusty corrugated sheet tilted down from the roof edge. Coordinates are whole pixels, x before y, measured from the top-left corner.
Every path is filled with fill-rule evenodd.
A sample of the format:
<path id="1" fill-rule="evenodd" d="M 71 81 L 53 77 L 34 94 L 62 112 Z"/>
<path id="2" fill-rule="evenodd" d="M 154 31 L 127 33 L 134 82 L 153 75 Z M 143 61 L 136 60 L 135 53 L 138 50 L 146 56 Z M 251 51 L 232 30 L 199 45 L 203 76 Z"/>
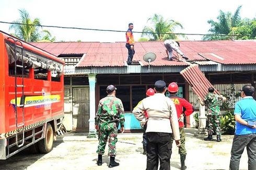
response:
<path id="1" fill-rule="evenodd" d="M 204 99 L 208 93 L 208 88 L 213 85 L 206 79 L 203 72 L 199 69 L 197 64 L 192 64 L 189 67 L 180 71 L 180 74 L 188 81 L 194 93 L 201 99 Z M 219 92 L 215 89 L 215 93 Z"/>

